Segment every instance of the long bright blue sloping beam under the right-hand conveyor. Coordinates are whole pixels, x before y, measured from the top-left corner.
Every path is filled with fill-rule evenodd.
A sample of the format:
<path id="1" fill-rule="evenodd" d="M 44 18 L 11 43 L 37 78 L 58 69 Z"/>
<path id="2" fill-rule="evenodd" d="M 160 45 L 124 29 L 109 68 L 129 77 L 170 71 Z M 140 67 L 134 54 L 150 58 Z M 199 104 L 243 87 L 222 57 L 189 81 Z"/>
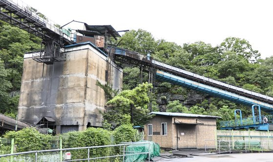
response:
<path id="1" fill-rule="evenodd" d="M 190 81 L 188 79 L 178 77 L 163 71 L 156 71 L 156 79 L 161 81 L 167 81 L 170 83 L 178 84 L 184 87 L 188 87 L 189 89 L 201 91 L 203 93 L 210 94 L 211 96 L 223 98 L 226 100 L 234 101 L 240 104 L 252 106 L 259 105 L 263 111 L 273 114 L 273 105 L 253 100 L 251 98 L 247 98 L 244 96 L 237 95 L 235 93 L 231 93 L 225 90 L 221 90 L 219 88 L 215 88 L 209 85 L 205 85 L 196 81 Z"/>

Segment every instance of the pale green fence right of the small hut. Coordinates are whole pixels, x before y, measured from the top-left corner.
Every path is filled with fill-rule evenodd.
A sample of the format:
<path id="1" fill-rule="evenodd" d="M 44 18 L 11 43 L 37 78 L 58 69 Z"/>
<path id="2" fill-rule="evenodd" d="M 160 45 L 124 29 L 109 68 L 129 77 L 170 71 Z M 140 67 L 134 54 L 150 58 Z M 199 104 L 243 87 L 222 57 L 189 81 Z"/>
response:
<path id="1" fill-rule="evenodd" d="M 253 152 L 273 151 L 273 141 L 261 140 L 205 140 L 205 152 L 231 153 L 232 151 Z"/>

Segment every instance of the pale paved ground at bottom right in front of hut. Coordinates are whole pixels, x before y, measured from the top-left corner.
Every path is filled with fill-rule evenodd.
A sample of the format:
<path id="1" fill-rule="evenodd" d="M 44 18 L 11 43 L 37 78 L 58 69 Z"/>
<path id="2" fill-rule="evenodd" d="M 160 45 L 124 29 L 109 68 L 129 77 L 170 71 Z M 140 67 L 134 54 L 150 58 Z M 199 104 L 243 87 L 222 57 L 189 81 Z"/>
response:
<path id="1" fill-rule="evenodd" d="M 197 154 L 196 154 L 197 155 Z M 206 154 L 192 158 L 158 159 L 156 162 L 273 162 L 273 153 Z"/>

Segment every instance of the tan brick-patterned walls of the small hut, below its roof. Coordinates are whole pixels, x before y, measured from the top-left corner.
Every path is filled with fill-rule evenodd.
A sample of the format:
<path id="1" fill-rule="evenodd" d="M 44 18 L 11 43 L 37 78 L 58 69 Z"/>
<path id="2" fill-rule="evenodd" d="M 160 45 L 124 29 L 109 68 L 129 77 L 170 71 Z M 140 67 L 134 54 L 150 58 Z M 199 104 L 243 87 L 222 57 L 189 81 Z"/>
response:
<path id="1" fill-rule="evenodd" d="M 175 122 L 178 121 L 187 124 L 176 124 Z M 161 132 L 162 122 L 168 122 L 167 136 L 162 136 L 161 134 L 148 136 L 147 124 L 153 125 L 153 132 Z M 203 124 L 196 124 L 196 122 Z M 157 142 L 163 148 L 205 148 L 205 140 L 215 140 L 216 120 L 212 118 L 166 117 L 157 115 L 147 124 L 144 126 L 145 140 Z M 214 143 L 207 142 L 207 144 L 211 145 Z"/>

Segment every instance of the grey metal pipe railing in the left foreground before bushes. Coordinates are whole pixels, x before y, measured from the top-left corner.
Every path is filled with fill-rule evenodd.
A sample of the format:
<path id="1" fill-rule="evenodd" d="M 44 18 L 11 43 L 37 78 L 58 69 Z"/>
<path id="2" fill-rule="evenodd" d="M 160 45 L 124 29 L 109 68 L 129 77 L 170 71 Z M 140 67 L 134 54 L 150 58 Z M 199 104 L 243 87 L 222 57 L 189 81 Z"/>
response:
<path id="1" fill-rule="evenodd" d="M 148 151 L 145 152 L 128 152 L 126 151 L 126 146 L 134 145 L 134 144 L 148 144 Z M 113 151 L 108 152 L 109 154 L 103 154 L 107 152 L 107 150 L 115 150 L 119 149 L 119 153 Z M 93 156 L 94 150 L 100 152 L 100 155 L 104 156 Z M 104 145 L 104 146 L 91 146 L 91 147 L 77 147 L 77 148 L 63 148 L 63 149 L 52 149 L 52 150 L 39 150 L 39 151 L 27 151 L 13 154 L 4 154 L 0 155 L 0 160 L 2 158 L 6 158 L 3 160 L 6 161 L 15 161 L 15 162 L 76 162 L 76 161 L 87 161 L 91 160 L 102 160 L 105 159 L 105 162 L 108 161 L 122 161 L 125 162 L 128 156 L 147 154 L 148 161 L 150 162 L 150 143 L 149 142 L 132 142 L 132 143 L 122 143 L 122 144 L 114 144 L 114 145 Z M 44 158 L 41 155 L 48 155 L 48 152 L 71 152 L 72 160 L 64 159 L 61 154 L 61 159 L 52 159 L 51 157 Z M 75 154 L 73 154 L 73 152 Z M 81 156 L 77 156 L 77 154 L 81 154 Z M 85 154 L 85 155 L 84 155 Z M 60 157 L 60 156 L 59 156 Z M 115 158 L 110 159 L 110 158 Z M 63 161 L 63 159 L 65 161 Z"/>

